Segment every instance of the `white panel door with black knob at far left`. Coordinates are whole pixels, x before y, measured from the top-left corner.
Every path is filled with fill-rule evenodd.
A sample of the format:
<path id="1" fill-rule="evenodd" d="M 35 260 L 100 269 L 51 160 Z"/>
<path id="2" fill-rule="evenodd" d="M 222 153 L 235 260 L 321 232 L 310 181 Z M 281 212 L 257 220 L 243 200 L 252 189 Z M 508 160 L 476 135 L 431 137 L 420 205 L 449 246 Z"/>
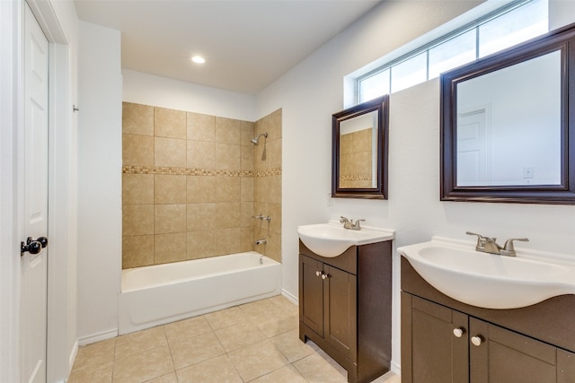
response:
<path id="1" fill-rule="evenodd" d="M 23 233 L 48 237 L 49 43 L 25 6 L 24 22 L 24 205 Z M 23 239 L 24 245 L 27 240 Z M 21 254 L 20 363 L 23 382 L 46 381 L 48 248 Z"/>

